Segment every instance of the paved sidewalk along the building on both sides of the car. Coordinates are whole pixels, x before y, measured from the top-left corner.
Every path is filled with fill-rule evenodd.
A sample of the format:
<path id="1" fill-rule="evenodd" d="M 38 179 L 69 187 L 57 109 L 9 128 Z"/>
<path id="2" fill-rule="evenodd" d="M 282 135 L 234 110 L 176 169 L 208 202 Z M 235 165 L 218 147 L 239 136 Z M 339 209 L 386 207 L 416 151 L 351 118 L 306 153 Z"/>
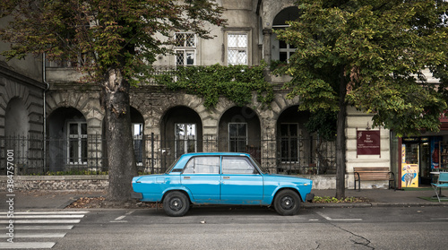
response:
<path id="1" fill-rule="evenodd" d="M 316 196 L 334 196 L 335 190 L 313 190 Z M 8 201 L 13 198 L 14 211 L 27 210 L 62 210 L 80 197 L 105 196 L 103 192 L 65 192 L 65 191 L 31 191 L 15 192 L 15 196 L 7 196 L 6 192 L 0 192 L 0 211 L 8 211 Z M 427 201 L 418 197 L 432 197 L 434 190 L 421 188 L 412 191 L 393 189 L 364 189 L 361 191 L 346 189 L 347 197 L 363 197 L 368 203 L 304 203 L 306 208 L 317 207 L 372 207 L 372 206 L 448 206 L 447 202 L 438 203 L 437 199 Z"/>

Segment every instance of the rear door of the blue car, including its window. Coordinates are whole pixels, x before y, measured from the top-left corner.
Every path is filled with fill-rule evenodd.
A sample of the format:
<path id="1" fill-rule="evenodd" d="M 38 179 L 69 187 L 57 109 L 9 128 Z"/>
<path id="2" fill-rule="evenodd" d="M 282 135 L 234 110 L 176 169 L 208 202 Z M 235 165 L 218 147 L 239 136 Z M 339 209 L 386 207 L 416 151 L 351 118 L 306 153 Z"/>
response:
<path id="1" fill-rule="evenodd" d="M 180 175 L 182 185 L 196 203 L 220 202 L 220 157 L 197 156 L 188 160 Z"/>

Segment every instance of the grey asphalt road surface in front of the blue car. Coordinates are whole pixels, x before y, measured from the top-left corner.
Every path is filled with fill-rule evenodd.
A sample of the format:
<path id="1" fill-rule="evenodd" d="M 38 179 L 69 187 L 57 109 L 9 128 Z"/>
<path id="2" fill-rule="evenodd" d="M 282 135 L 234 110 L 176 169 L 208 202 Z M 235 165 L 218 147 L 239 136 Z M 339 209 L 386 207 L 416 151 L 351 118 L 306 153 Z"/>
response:
<path id="1" fill-rule="evenodd" d="M 207 207 L 194 208 L 182 218 L 155 210 L 90 210 L 72 229 L 52 232 L 58 231 L 64 231 L 64 237 L 14 240 L 51 241 L 51 249 L 434 250 L 447 248 L 448 210 L 316 208 L 284 217 L 266 208 Z"/>

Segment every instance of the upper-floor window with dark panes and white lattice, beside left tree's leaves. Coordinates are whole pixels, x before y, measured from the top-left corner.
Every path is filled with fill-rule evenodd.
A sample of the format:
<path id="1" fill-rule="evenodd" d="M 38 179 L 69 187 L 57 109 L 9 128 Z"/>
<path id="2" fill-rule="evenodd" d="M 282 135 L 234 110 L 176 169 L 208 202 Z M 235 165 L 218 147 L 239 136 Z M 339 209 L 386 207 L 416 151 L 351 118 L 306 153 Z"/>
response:
<path id="1" fill-rule="evenodd" d="M 175 34 L 176 65 L 194 65 L 196 54 L 196 35 L 190 32 Z"/>

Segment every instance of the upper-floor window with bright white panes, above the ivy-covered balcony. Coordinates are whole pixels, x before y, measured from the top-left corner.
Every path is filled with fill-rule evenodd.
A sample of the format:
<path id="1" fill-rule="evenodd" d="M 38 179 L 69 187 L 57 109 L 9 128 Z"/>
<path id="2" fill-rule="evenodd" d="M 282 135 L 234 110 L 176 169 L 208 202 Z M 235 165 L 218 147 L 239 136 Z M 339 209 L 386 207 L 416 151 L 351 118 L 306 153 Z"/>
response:
<path id="1" fill-rule="evenodd" d="M 228 33 L 228 65 L 247 65 L 247 34 Z"/>

